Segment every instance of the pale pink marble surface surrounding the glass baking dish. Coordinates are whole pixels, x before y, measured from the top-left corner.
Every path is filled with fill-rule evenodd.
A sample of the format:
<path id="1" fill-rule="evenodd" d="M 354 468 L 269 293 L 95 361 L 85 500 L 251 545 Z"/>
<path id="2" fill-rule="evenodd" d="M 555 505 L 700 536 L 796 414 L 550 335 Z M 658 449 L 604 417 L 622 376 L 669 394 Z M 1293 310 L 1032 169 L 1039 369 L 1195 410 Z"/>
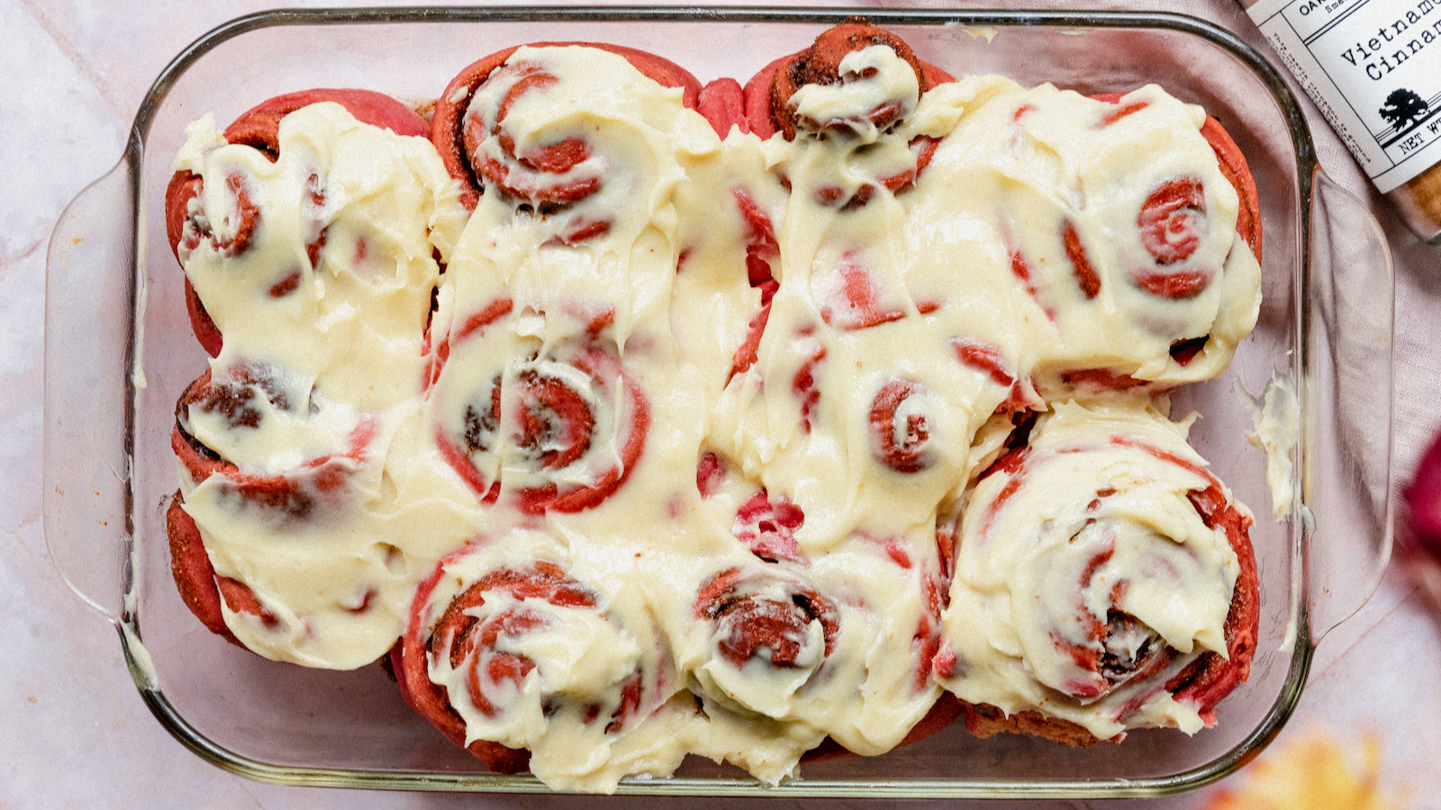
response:
<path id="1" fill-rule="evenodd" d="M 1258 43 L 1229 1 L 1107 4 L 1133 6 L 1189 10 Z M 0 807 L 559 807 L 594 801 L 293 788 L 223 773 L 189 754 L 151 719 L 121 662 L 115 628 L 82 605 L 50 565 L 40 506 L 50 229 L 66 202 L 118 159 L 141 97 L 171 55 L 225 19 L 262 7 L 252 0 L 0 0 L 0 75 L 6 76 L 0 86 L 0 532 L 6 543 L 0 634 L 9 662 L 0 675 L 6 685 L 0 690 Z M 1404 483 L 1441 427 L 1434 393 L 1441 372 L 1441 248 L 1404 231 L 1316 110 L 1308 104 L 1307 110 L 1323 164 L 1369 200 L 1396 262 L 1393 466 Z M 1375 732 L 1382 787 L 1402 806 L 1441 807 L 1438 682 L 1441 613 L 1406 568 L 1393 564 L 1369 604 L 1321 644 L 1306 695 L 1278 745 L 1317 729 L 1343 738 Z M 1238 780 L 1228 783 L 1221 787 L 1235 787 Z M 1193 809 L 1213 793 L 1141 804 Z M 615 800 L 625 806 L 669 801 Z M 1112 804 L 1120 803 L 1055 806 Z"/>

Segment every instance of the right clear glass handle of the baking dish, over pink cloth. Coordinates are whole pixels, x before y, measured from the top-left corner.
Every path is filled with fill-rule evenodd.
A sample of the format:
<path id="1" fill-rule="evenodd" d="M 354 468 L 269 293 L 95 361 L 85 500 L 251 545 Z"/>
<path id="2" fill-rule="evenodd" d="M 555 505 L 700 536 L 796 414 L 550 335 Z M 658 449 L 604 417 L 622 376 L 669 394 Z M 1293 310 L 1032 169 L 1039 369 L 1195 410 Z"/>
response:
<path id="1" fill-rule="evenodd" d="M 1301 487 L 1311 510 L 1306 587 L 1311 643 L 1360 610 L 1391 558 L 1395 278 L 1366 205 L 1317 170 Z"/>

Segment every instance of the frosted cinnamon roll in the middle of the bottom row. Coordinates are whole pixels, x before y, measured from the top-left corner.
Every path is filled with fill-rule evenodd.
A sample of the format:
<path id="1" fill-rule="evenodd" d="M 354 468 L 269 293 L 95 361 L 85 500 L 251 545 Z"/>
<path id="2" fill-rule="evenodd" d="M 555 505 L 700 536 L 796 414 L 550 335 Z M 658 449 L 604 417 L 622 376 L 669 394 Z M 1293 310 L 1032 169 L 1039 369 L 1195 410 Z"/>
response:
<path id="1" fill-rule="evenodd" d="M 876 755 L 918 738 L 922 721 L 916 735 L 954 718 L 954 703 L 935 706 L 931 677 L 942 588 L 934 542 L 869 532 L 813 561 L 738 559 L 702 579 L 690 621 L 673 634 L 677 666 L 718 739 L 771 736 L 755 744 L 769 751 L 764 764 L 720 755 L 758 775 L 784 773 L 827 736 Z"/>

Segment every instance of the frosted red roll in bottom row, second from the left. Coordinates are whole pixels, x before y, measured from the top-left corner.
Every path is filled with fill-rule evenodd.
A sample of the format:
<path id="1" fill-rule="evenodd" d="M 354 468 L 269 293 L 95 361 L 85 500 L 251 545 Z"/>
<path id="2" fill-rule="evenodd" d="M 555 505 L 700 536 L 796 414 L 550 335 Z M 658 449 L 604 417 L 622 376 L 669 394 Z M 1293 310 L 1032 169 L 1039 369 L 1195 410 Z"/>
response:
<path id="1" fill-rule="evenodd" d="M 391 653 L 402 698 L 496 771 L 591 790 L 669 774 L 684 748 L 666 736 L 697 719 L 693 703 L 667 705 L 669 660 L 623 577 L 578 574 L 566 556 L 529 532 L 445 556 Z"/>

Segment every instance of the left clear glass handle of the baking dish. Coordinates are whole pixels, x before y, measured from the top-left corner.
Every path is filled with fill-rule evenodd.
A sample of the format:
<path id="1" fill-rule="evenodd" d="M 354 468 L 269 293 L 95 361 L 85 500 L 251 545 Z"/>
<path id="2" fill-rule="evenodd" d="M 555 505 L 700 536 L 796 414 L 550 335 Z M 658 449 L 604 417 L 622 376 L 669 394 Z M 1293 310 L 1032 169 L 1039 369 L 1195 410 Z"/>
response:
<path id="1" fill-rule="evenodd" d="M 61 215 L 45 280 L 45 540 L 71 589 L 111 621 L 130 579 L 134 202 L 127 154 Z"/>

